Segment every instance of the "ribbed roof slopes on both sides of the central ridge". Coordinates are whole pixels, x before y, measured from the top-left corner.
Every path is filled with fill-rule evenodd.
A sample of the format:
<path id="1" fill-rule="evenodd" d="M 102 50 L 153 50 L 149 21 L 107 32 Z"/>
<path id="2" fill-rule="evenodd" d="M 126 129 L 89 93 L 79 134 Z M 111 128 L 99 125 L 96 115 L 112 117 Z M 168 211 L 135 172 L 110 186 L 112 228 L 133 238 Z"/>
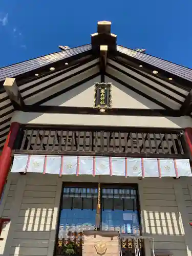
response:
<path id="1" fill-rule="evenodd" d="M 75 56 L 79 53 L 83 53 L 91 50 L 91 44 L 79 46 L 75 48 L 68 49 L 66 51 L 56 52 L 49 55 L 41 56 L 35 59 L 20 62 L 8 67 L 0 69 L 0 81 L 4 81 L 6 77 L 16 77 L 20 74 L 45 67 L 51 63 L 57 62 L 59 60 L 65 60 L 69 57 Z M 152 65 L 158 69 L 166 71 L 170 74 L 176 75 L 188 81 L 192 81 L 192 69 L 188 69 L 179 66 L 175 63 L 148 55 L 146 53 L 141 53 L 123 46 L 117 45 L 117 53 L 121 53 L 125 56 L 130 56 L 133 59 L 140 60 Z"/>

